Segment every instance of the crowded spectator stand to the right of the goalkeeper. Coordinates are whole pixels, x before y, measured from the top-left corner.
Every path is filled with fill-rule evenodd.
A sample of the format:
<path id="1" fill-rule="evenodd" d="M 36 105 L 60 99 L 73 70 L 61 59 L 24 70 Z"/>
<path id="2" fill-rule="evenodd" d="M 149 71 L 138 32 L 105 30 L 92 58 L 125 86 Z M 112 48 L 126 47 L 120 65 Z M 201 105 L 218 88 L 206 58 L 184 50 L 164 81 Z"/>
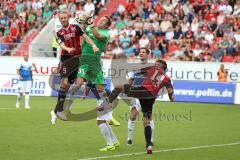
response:
<path id="1" fill-rule="evenodd" d="M 239 0 L 129 0 L 111 17 L 109 57 L 134 58 L 140 45 L 155 59 L 239 62 Z"/>

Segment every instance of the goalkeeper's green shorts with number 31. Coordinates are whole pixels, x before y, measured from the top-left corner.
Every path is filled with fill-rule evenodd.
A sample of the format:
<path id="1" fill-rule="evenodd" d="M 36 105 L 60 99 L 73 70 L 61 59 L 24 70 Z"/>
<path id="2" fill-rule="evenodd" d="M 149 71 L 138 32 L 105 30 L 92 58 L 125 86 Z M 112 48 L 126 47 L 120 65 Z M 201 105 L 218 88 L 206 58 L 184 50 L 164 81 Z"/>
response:
<path id="1" fill-rule="evenodd" d="M 100 62 L 93 62 L 94 61 L 90 59 L 81 59 L 77 77 L 84 78 L 87 81 L 91 81 L 93 84 L 105 84 Z"/>

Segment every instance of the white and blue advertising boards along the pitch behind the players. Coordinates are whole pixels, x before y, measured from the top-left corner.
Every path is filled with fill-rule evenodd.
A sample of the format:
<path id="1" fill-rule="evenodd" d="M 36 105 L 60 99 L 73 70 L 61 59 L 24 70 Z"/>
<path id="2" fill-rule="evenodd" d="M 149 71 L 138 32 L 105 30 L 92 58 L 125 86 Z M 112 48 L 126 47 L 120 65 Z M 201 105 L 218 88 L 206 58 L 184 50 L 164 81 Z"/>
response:
<path id="1" fill-rule="evenodd" d="M 21 58 L 0 57 L 0 60 L 0 94 L 16 95 L 19 83 L 16 68 Z M 57 91 L 53 88 L 58 88 L 59 81 L 54 82 L 55 87 L 53 87 L 50 75 L 58 66 L 58 59 L 31 58 L 31 60 L 33 61 L 31 94 L 34 96 L 56 96 Z M 130 66 L 134 66 L 124 62 L 127 63 L 124 67 L 121 66 L 121 63 L 117 64 L 116 62 L 114 64 L 117 64 L 117 66 L 115 66 L 111 60 L 103 61 L 103 70 L 108 90 L 113 89 L 116 79 L 126 79 L 126 73 L 130 70 Z M 230 72 L 230 82 L 228 83 L 216 82 L 219 65 L 220 63 L 168 62 L 168 74 L 173 79 L 175 100 L 181 102 L 240 104 L 240 83 L 237 83 L 240 75 L 239 64 L 225 64 Z M 118 66 L 121 67 L 118 68 Z M 177 66 L 181 67 L 178 69 Z M 181 72 L 182 78 L 177 78 L 175 71 Z M 200 73 L 200 71 L 202 72 Z M 160 94 L 158 100 L 168 101 L 168 96 L 165 94 L 166 91 L 163 92 L 164 94 Z M 91 94 L 90 97 L 93 97 L 93 95 Z"/>

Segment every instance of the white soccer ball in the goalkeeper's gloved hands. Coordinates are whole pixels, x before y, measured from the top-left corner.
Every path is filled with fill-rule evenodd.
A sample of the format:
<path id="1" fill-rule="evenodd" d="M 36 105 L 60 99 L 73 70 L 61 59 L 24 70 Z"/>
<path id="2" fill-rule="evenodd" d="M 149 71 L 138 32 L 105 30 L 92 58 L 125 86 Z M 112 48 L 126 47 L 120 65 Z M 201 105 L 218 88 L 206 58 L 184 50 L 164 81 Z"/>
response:
<path id="1" fill-rule="evenodd" d="M 93 23 L 93 17 L 84 11 L 78 11 L 75 14 L 75 19 L 80 24 L 90 25 Z"/>

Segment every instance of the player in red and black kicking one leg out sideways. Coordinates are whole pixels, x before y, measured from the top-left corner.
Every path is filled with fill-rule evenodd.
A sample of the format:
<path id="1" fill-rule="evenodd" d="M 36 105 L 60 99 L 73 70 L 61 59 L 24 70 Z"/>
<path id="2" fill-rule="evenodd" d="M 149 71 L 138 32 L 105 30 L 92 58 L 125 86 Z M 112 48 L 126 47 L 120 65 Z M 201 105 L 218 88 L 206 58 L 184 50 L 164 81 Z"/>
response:
<path id="1" fill-rule="evenodd" d="M 155 99 L 158 96 L 158 92 L 166 87 L 168 91 L 168 96 L 171 101 L 174 101 L 173 97 L 173 86 L 171 79 L 165 74 L 167 70 L 167 63 L 163 60 L 157 60 L 154 66 L 142 68 L 137 74 L 143 75 L 145 77 L 142 85 L 130 85 L 124 84 L 119 85 L 114 88 L 110 93 L 108 100 L 104 101 L 100 106 L 99 110 L 104 110 L 104 108 L 109 108 L 111 103 L 118 97 L 122 92 L 128 97 L 138 98 L 142 107 L 143 112 L 143 124 L 145 127 L 145 138 L 146 138 L 146 149 L 147 153 L 152 153 L 152 142 L 151 134 L 152 129 L 150 127 L 150 120 L 152 119 L 152 109 Z"/>

